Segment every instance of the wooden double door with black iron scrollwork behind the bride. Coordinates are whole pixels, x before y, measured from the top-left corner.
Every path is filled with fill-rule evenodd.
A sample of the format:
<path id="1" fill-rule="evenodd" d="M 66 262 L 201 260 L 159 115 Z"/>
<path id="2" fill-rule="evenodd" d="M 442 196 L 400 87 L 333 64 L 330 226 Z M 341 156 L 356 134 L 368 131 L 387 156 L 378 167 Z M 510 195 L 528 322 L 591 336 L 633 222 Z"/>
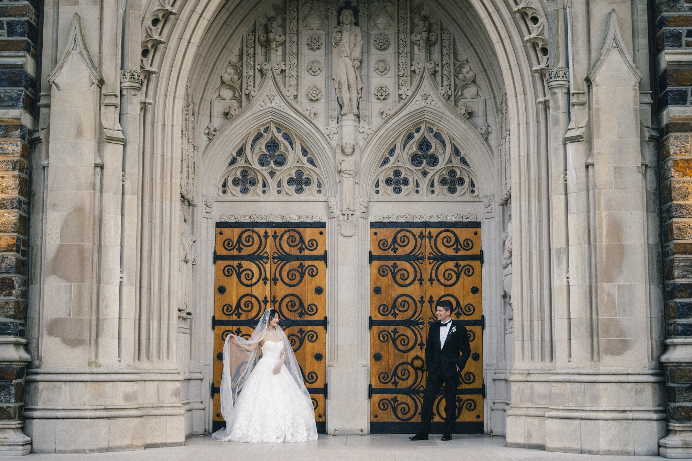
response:
<path id="1" fill-rule="evenodd" d="M 224 341 L 230 332 L 249 338 L 262 313 L 274 308 L 280 314 L 280 326 L 291 342 L 312 398 L 318 432 L 325 433 L 325 225 L 324 222 L 216 224 L 213 431 L 226 425 L 219 402 Z"/>

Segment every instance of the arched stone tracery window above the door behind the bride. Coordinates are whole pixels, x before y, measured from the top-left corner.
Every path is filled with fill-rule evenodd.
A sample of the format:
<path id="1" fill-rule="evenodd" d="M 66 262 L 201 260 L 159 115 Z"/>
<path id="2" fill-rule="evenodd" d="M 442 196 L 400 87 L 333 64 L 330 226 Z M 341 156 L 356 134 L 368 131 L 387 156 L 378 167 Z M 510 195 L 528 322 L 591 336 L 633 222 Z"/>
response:
<path id="1" fill-rule="evenodd" d="M 293 131 L 268 124 L 235 148 L 221 175 L 221 197 L 323 197 L 323 180 L 309 147 Z"/>

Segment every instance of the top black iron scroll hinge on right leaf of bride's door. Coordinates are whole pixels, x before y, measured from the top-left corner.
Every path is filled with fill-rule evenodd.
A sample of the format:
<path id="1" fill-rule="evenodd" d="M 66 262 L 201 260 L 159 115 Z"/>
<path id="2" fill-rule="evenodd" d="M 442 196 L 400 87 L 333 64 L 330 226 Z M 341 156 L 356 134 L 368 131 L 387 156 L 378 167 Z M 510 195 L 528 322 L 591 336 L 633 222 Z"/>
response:
<path id="1" fill-rule="evenodd" d="M 318 267 L 314 264 L 306 264 L 303 261 L 325 261 L 325 256 L 302 254 L 306 251 L 317 250 L 319 244 L 316 239 L 310 238 L 308 241 L 305 241 L 298 229 L 286 229 L 281 235 L 274 231 L 271 238 L 274 239 L 275 247 L 275 251 L 271 256 L 271 262 L 276 265 L 274 276 L 271 279 L 274 285 L 281 280 L 284 285 L 295 287 L 300 285 L 306 274 L 311 277 L 317 276 L 319 273 Z M 288 250 L 286 247 L 288 247 Z M 291 251 L 298 251 L 298 254 L 291 254 Z M 286 265 L 293 261 L 300 261 L 298 267 L 290 267 L 284 274 Z"/>

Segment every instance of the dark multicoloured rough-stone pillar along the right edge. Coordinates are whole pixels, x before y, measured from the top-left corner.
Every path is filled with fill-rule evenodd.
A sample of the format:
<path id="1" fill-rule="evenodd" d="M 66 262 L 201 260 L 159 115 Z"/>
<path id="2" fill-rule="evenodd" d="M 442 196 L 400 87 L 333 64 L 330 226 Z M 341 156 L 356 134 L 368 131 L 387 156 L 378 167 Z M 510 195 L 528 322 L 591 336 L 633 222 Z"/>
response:
<path id="1" fill-rule="evenodd" d="M 657 88 L 661 134 L 661 220 L 665 279 L 668 435 L 659 441 L 664 458 L 692 458 L 692 45 L 683 38 L 692 10 L 683 1 L 659 0 L 655 16 Z"/>

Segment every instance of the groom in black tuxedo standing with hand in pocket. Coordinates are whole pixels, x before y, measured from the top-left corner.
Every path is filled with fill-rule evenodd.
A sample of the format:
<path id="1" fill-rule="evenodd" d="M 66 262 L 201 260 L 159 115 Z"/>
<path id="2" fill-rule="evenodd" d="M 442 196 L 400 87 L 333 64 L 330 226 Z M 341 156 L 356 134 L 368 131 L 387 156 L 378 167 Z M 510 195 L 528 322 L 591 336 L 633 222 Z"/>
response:
<path id="1" fill-rule="evenodd" d="M 452 440 L 452 429 L 457 419 L 457 385 L 459 373 L 464 370 L 468 357 L 471 356 L 471 346 L 468 344 L 466 328 L 458 320 L 452 320 L 452 301 L 438 301 L 435 313 L 437 320 L 428 330 L 426 344 L 426 364 L 428 366 L 428 381 L 423 396 L 423 415 L 421 430 L 410 440 L 428 440 L 430 422 L 432 421 L 432 405 L 435 397 L 444 384 L 444 430 L 442 440 Z M 459 357 L 461 353 L 461 357 Z"/>

